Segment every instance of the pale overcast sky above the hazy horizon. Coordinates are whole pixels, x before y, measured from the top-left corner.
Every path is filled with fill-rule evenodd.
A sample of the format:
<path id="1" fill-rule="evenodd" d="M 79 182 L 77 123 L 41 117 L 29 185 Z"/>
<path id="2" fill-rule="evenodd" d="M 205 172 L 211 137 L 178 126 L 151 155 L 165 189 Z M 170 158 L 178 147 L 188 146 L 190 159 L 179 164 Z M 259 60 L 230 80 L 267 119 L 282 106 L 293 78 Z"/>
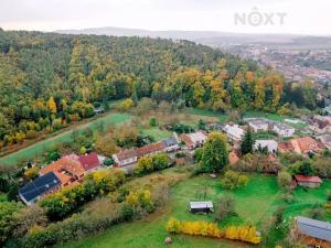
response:
<path id="1" fill-rule="evenodd" d="M 118 26 L 331 35 L 331 1 L 1 0 L 0 26 L 40 31 Z"/>

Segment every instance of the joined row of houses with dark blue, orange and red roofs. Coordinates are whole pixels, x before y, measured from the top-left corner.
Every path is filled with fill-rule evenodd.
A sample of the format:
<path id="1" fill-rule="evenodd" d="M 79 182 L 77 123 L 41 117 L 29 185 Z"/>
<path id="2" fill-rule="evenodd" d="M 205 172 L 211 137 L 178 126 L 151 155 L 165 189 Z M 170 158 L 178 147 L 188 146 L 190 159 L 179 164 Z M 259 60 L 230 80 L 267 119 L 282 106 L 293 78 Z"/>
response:
<path id="1" fill-rule="evenodd" d="M 88 174 L 102 168 L 103 158 L 97 153 L 68 154 L 47 164 L 39 171 L 40 176 L 19 190 L 20 198 L 32 205 L 44 195 L 65 186 L 74 185 Z"/>

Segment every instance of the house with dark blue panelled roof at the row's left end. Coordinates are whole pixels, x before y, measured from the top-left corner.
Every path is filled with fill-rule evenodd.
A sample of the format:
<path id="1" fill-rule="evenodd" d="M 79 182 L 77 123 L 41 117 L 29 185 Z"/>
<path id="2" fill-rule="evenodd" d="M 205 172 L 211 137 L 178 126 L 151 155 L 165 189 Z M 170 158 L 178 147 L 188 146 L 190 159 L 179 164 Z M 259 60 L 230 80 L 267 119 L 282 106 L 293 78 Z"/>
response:
<path id="1" fill-rule="evenodd" d="M 54 172 L 39 176 L 19 190 L 19 196 L 26 205 L 34 204 L 39 198 L 61 187 L 61 181 Z"/>

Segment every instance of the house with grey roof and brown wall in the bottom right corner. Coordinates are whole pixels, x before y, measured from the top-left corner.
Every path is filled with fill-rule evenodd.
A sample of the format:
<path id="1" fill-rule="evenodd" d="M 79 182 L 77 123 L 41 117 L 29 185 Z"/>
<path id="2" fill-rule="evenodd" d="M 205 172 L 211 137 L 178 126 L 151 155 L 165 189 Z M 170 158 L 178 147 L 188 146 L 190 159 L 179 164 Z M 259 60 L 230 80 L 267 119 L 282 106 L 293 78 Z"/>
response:
<path id="1" fill-rule="evenodd" d="M 308 247 L 331 247 L 331 224 L 328 222 L 297 216 L 291 235 Z"/>

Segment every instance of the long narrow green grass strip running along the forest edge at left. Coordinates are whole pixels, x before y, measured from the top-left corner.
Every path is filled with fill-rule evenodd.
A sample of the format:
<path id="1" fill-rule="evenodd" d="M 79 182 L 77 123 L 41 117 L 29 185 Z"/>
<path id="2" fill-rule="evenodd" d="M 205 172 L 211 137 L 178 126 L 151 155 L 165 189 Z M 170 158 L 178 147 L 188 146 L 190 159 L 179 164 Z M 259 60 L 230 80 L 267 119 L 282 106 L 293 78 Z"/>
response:
<path id="1" fill-rule="evenodd" d="M 88 123 L 82 125 L 76 128 L 76 130 L 84 130 L 85 128 L 90 128 L 96 130 L 99 123 L 104 123 L 105 128 L 109 125 L 120 125 L 131 118 L 128 114 L 108 114 L 105 117 L 95 119 Z M 70 142 L 72 141 L 73 129 L 62 132 L 58 136 L 46 139 L 44 141 L 39 141 L 35 144 L 32 144 L 25 149 L 11 153 L 9 155 L 0 158 L 0 163 L 14 165 L 20 160 L 29 160 L 34 157 L 42 154 L 44 151 L 54 148 L 57 143 Z"/>

